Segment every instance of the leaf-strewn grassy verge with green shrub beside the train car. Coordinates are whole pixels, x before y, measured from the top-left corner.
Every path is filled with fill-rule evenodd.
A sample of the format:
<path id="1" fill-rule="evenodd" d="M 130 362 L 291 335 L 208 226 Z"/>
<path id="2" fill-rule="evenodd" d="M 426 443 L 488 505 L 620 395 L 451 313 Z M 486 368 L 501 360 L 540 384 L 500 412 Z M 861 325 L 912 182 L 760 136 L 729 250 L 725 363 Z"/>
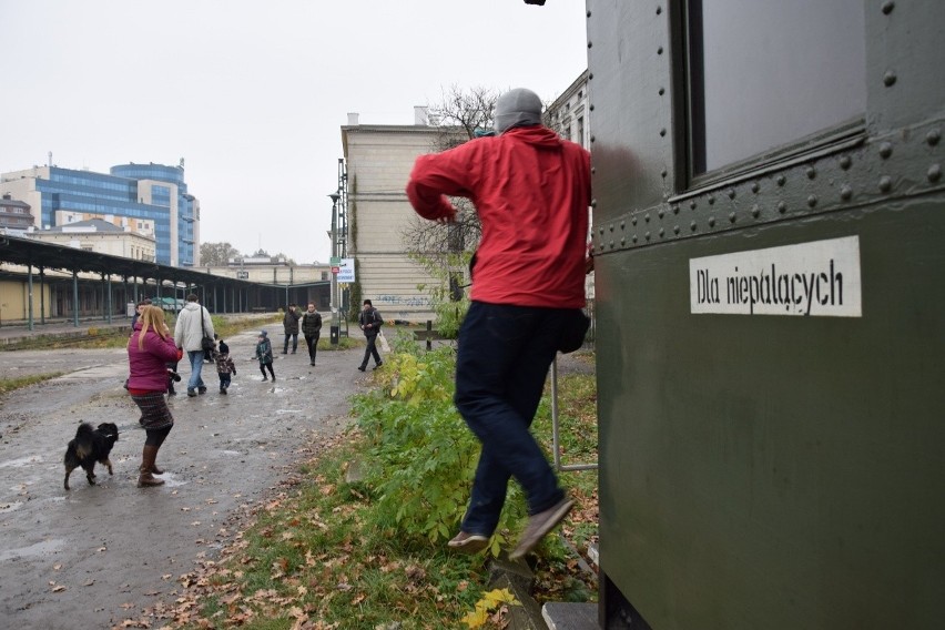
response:
<path id="1" fill-rule="evenodd" d="M 395 347 L 376 387 L 356 397 L 358 425 L 327 444 L 257 506 L 251 525 L 217 561 L 181 577 L 169 628 L 500 628 L 501 616 L 464 621 L 489 600 L 489 557 L 450 553 L 468 500 L 478 446 L 450 403 L 453 352 Z M 569 458 L 597 459 L 593 377 L 559 378 L 561 444 Z M 535 434 L 550 453 L 546 395 Z M 586 548 L 597 539 L 596 471 L 563 472 L 577 507 L 561 529 Z M 514 542 L 525 506 L 512 484 L 495 542 Z M 541 601 L 592 601 L 596 580 L 557 535 L 537 549 Z M 509 604 L 514 606 L 514 604 Z"/>

